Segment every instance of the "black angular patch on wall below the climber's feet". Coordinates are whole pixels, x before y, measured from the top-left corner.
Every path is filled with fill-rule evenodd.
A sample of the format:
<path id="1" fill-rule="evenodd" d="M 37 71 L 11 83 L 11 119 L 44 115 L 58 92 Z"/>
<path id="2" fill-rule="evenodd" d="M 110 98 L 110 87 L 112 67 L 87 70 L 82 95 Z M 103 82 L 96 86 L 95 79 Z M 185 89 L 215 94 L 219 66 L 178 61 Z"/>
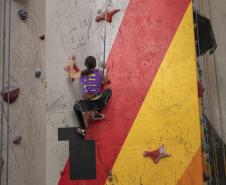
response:
<path id="1" fill-rule="evenodd" d="M 59 128 L 58 140 L 69 140 L 70 179 L 96 179 L 95 141 L 84 140 L 76 127 Z"/>

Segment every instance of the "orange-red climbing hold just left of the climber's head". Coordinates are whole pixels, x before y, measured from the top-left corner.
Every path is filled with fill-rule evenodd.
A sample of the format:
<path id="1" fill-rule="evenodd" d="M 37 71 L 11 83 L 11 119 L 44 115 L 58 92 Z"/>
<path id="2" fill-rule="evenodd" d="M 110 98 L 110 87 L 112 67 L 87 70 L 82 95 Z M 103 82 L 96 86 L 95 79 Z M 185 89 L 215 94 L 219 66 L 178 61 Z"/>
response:
<path id="1" fill-rule="evenodd" d="M 75 78 L 80 77 L 80 70 L 75 63 L 75 56 L 70 57 L 68 65 L 64 67 L 64 70 L 68 72 L 68 77 L 73 81 Z"/>

